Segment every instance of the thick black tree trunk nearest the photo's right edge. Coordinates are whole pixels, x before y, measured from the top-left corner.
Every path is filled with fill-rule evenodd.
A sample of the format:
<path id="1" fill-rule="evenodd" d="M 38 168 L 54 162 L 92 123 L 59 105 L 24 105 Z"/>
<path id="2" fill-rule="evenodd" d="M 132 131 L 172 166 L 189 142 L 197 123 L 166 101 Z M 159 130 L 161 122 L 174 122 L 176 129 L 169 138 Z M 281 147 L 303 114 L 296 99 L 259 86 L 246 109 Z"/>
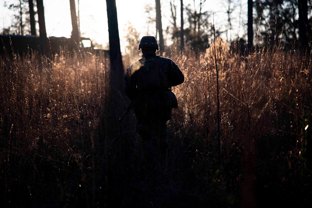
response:
<path id="1" fill-rule="evenodd" d="M 298 13 L 299 13 L 299 40 L 302 52 L 306 52 L 309 48 L 308 41 L 308 0 L 298 0 Z"/>

